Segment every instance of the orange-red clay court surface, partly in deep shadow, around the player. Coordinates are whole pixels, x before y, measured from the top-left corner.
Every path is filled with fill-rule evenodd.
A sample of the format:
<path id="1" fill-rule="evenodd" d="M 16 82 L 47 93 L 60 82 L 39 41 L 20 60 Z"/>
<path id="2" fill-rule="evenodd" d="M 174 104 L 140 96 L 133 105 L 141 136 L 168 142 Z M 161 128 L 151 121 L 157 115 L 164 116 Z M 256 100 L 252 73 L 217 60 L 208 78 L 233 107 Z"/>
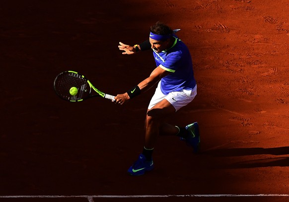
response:
<path id="1" fill-rule="evenodd" d="M 2 0 L 0 202 L 287 202 L 288 8 L 288 0 Z M 151 51 L 123 55 L 118 43 L 143 42 L 158 20 L 181 29 L 198 83 L 195 100 L 167 122 L 198 121 L 201 152 L 160 137 L 155 169 L 131 177 L 154 88 L 125 105 L 70 103 L 53 81 L 74 70 L 106 93 L 126 92 L 155 63 Z"/>

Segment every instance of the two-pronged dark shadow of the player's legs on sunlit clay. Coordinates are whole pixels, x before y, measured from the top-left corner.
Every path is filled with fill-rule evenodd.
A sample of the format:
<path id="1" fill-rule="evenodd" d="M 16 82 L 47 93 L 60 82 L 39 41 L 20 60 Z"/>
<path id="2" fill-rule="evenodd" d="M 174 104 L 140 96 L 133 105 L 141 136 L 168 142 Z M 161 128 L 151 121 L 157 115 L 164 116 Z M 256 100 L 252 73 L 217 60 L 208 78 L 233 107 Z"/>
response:
<path id="1" fill-rule="evenodd" d="M 206 153 L 206 152 L 204 152 Z M 268 158 L 262 156 L 253 157 L 253 160 L 242 160 L 241 162 L 226 164 L 226 168 L 255 168 L 255 167 L 274 167 L 289 166 L 289 156 L 278 156 L 278 155 L 288 155 L 289 147 L 279 147 L 279 148 L 231 148 L 231 149 L 217 149 L 210 151 L 210 154 L 220 157 L 233 157 L 233 156 L 250 156 L 250 155 L 276 155 Z M 250 157 L 252 159 L 252 157 Z"/>

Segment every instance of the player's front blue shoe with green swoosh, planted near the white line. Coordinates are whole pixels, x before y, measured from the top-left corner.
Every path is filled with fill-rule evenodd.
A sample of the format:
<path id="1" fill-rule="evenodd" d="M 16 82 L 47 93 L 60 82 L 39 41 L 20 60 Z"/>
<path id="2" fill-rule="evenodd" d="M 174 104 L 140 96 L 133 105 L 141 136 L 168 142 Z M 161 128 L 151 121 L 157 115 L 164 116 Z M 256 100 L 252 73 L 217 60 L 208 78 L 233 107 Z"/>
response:
<path id="1" fill-rule="evenodd" d="M 128 173 L 132 176 L 144 175 L 145 171 L 153 169 L 153 161 L 146 160 L 143 154 L 140 154 L 138 160 L 128 169 Z"/>

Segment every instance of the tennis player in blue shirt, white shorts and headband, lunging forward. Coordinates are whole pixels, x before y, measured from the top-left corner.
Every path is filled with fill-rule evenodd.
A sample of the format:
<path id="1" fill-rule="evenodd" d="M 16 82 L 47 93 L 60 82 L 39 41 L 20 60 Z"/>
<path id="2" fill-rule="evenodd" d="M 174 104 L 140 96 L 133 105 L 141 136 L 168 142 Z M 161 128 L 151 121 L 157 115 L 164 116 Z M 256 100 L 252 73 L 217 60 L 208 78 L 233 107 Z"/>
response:
<path id="1" fill-rule="evenodd" d="M 150 27 L 149 39 L 140 45 L 129 46 L 120 42 L 123 54 L 153 50 L 156 68 L 150 76 L 127 93 L 115 97 L 115 102 L 126 101 L 147 91 L 158 82 L 157 88 L 148 105 L 145 119 L 144 149 L 138 160 L 128 169 L 130 175 L 143 175 L 153 169 L 152 152 L 158 135 L 179 136 L 194 152 L 198 152 L 200 135 L 197 122 L 179 127 L 163 122 L 164 118 L 187 105 L 197 95 L 193 63 L 186 45 L 167 25 L 157 22 Z"/>

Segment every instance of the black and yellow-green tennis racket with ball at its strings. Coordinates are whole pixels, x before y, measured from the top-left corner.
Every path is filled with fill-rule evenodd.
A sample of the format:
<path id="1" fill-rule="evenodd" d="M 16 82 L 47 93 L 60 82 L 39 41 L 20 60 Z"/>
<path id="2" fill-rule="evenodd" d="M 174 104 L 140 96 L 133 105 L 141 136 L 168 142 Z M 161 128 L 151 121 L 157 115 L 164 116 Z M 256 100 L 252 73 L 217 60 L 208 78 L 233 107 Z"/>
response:
<path id="1" fill-rule="evenodd" d="M 93 89 L 96 94 L 92 94 Z M 96 89 L 83 75 L 75 71 L 65 71 L 57 75 L 54 80 L 56 94 L 66 101 L 83 101 L 88 98 L 102 97 L 115 101 L 114 97 Z"/>

